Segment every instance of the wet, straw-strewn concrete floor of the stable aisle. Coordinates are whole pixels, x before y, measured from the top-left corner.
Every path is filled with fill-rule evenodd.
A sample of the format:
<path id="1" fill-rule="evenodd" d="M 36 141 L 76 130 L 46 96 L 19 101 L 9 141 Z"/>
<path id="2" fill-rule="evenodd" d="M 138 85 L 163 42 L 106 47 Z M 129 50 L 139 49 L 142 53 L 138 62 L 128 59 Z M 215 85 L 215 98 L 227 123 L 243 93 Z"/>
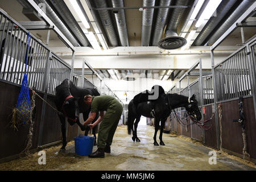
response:
<path id="1" fill-rule="evenodd" d="M 208 162 L 210 148 L 170 134 L 163 134 L 166 146 L 154 146 L 153 135 L 154 127 L 139 126 L 138 137 L 141 142 L 133 142 L 131 135 L 127 134 L 126 126 L 121 126 L 115 132 L 111 154 L 105 153 L 103 159 L 91 159 L 88 156 L 76 155 L 72 142 L 67 146 L 67 151 L 64 154 L 58 152 L 60 146 L 46 150 L 46 165 L 32 165 L 29 162 L 30 159 L 27 158 L 14 160 L 10 164 L 5 163 L 5 167 L 1 167 L 0 164 L 0 169 L 8 169 L 6 166 L 16 163 L 18 166 L 16 169 L 27 170 L 255 170 L 253 167 L 222 154 L 217 154 L 217 164 L 210 165 Z M 97 150 L 96 146 L 93 147 L 93 151 L 95 150 Z M 35 158 L 31 160 L 37 163 L 39 156 L 36 153 L 32 158 Z M 26 160 L 28 160 L 27 165 L 32 166 L 26 168 Z M 15 167 L 11 169 L 15 170 Z"/>

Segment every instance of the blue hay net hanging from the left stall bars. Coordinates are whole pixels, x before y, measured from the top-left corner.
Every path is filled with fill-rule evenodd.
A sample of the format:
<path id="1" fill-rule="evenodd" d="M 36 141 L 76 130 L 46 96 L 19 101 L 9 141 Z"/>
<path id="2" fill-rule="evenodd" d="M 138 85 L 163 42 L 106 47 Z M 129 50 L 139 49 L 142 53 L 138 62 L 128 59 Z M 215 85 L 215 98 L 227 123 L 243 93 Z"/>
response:
<path id="1" fill-rule="evenodd" d="M 16 108 L 19 111 L 18 119 L 20 122 L 25 123 L 30 119 L 30 93 L 28 92 L 28 81 L 27 81 L 27 57 L 28 57 L 28 48 L 29 48 L 29 40 L 30 40 L 30 32 L 28 32 L 27 36 L 27 52 L 26 52 L 26 67 L 25 73 L 22 80 L 22 86 L 19 93 L 18 102 Z"/>

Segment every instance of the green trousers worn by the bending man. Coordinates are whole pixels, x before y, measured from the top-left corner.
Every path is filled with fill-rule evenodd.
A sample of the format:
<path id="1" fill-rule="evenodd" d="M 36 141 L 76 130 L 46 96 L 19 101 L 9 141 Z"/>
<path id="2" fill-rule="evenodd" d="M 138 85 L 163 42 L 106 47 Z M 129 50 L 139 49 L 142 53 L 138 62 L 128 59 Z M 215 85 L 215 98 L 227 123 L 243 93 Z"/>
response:
<path id="1" fill-rule="evenodd" d="M 123 106 L 120 102 L 113 100 L 100 123 L 100 130 L 98 131 L 98 148 L 105 148 L 106 143 L 111 146 L 122 111 Z"/>

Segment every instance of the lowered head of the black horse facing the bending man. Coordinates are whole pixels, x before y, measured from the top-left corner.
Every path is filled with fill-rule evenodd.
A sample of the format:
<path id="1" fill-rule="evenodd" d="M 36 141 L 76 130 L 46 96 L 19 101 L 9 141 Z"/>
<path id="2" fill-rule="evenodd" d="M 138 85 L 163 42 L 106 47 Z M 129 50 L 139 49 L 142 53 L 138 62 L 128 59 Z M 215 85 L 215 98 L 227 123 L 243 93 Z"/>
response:
<path id="1" fill-rule="evenodd" d="M 74 124 L 79 122 L 79 98 L 71 97 L 64 101 L 64 114 L 68 118 L 68 122 Z"/>

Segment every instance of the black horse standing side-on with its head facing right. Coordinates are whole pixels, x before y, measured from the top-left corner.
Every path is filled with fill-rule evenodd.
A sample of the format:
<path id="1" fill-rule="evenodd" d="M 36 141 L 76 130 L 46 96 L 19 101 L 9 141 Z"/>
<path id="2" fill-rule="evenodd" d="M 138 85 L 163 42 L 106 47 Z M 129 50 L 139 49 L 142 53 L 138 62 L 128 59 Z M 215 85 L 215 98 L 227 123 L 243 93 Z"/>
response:
<path id="1" fill-rule="evenodd" d="M 197 105 L 195 94 L 193 94 L 192 97 L 187 97 L 180 94 L 164 93 L 161 94 L 155 101 L 141 102 L 139 104 L 134 104 L 134 101 L 131 100 L 128 105 L 128 134 L 131 134 L 131 130 L 133 131 L 133 141 L 136 140 L 137 142 L 140 142 L 139 138 L 137 137 L 137 127 L 139 120 L 141 119 L 141 115 L 143 115 L 144 117 L 152 118 L 152 107 L 155 111 L 155 146 L 159 145 L 158 142 L 156 142 L 156 133 L 158 132 L 160 121 L 161 127 L 159 139 L 160 145 L 164 145 L 164 142 L 162 140 L 164 123 L 166 122 L 167 117 L 171 114 L 172 109 L 176 109 L 177 107 L 185 107 L 187 113 L 193 119 L 195 119 L 196 121 L 200 121 L 201 119 L 201 113 Z"/>

